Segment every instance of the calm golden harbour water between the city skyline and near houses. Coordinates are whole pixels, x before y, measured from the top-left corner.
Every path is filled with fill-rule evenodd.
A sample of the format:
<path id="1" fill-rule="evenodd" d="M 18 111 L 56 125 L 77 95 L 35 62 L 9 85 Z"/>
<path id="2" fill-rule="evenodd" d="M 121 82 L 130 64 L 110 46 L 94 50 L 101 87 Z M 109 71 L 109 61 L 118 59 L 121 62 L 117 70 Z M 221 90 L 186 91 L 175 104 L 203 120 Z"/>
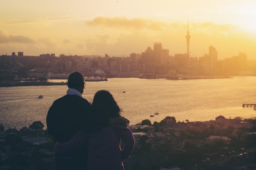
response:
<path id="1" fill-rule="evenodd" d="M 51 80 L 61 82 L 66 80 Z M 233 79 L 166 80 L 112 78 L 104 82 L 87 82 L 83 97 L 91 101 L 96 91 L 109 90 L 122 116 L 130 125 L 149 119 L 160 122 L 166 116 L 177 121 L 214 120 L 256 117 L 253 108 L 243 103 L 256 104 L 256 77 Z M 66 94 L 67 86 L 0 87 L 0 123 L 6 128 L 20 129 L 34 121 L 46 128 L 46 115 L 53 101 Z M 125 93 L 123 93 L 125 91 Z M 38 96 L 43 95 L 43 99 Z M 158 111 L 159 115 L 150 117 Z"/>

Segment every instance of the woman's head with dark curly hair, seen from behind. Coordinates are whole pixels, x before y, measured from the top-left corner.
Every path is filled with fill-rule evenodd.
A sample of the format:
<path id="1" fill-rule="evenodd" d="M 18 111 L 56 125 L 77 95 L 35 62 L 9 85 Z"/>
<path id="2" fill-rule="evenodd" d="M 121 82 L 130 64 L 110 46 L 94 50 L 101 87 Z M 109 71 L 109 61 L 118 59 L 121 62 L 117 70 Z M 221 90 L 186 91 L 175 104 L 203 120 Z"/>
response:
<path id="1" fill-rule="evenodd" d="M 99 90 L 95 93 L 91 106 L 94 114 L 108 118 L 118 117 L 122 112 L 111 93 L 106 90 Z"/>

